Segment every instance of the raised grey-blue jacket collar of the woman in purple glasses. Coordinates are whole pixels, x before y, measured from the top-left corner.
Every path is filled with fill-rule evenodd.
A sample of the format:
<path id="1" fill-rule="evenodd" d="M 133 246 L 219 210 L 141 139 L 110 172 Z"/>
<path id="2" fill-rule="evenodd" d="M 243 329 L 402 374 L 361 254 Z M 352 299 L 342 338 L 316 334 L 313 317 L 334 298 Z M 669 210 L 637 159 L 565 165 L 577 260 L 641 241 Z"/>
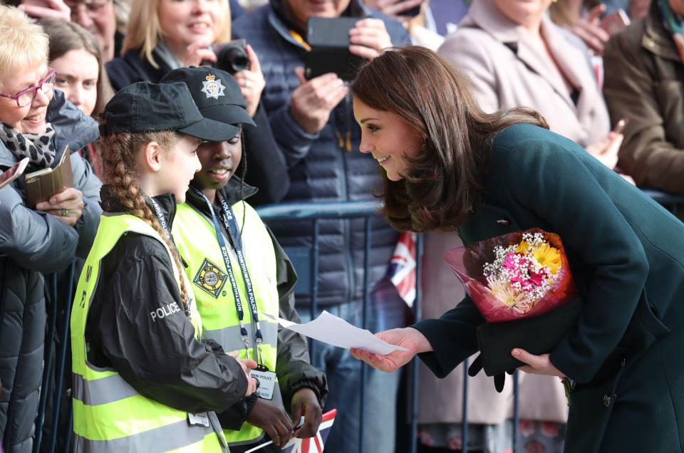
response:
<path id="1" fill-rule="evenodd" d="M 54 95 L 46 114 L 46 121 L 55 129 L 55 149 L 57 159 L 66 145 L 71 152 L 76 152 L 99 137 L 98 125 L 93 118 L 86 116 L 73 105 L 60 90 L 54 90 Z M 0 166 L 11 167 L 18 160 L 16 156 L 0 142 Z"/>

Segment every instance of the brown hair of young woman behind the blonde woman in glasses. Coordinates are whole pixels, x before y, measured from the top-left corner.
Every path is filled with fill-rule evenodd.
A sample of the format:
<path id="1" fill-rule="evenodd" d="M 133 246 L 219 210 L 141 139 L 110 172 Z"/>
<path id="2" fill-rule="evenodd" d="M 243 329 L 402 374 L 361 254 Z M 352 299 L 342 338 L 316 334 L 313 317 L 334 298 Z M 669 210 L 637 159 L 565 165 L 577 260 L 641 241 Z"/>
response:
<path id="1" fill-rule="evenodd" d="M 38 24 L 43 27 L 43 30 L 50 37 L 48 61 L 54 61 L 68 51 L 78 51 L 81 49 L 90 53 L 98 61 L 98 84 L 95 87 L 98 91 L 98 99 L 95 100 L 95 108 L 93 108 L 93 113 L 91 114 L 93 118 L 97 118 L 97 115 L 105 109 L 105 104 L 114 95 L 109 84 L 107 71 L 105 71 L 105 62 L 102 58 L 98 38 L 95 38 L 93 33 L 90 33 L 86 28 L 75 22 L 67 22 L 61 19 L 41 19 L 38 21 Z"/>

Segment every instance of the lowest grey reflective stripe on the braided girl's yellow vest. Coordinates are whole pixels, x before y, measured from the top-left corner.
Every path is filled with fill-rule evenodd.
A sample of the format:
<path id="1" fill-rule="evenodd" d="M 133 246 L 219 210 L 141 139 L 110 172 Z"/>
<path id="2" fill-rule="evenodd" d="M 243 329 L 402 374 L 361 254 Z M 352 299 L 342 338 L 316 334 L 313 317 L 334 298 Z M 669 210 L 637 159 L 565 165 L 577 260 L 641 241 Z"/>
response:
<path id="1" fill-rule="evenodd" d="M 217 435 L 211 427 L 190 426 L 187 420 L 149 431 L 110 440 L 90 440 L 74 433 L 73 451 L 77 453 L 168 452 L 201 442 L 207 434 Z M 216 439 L 217 447 L 221 445 Z"/>

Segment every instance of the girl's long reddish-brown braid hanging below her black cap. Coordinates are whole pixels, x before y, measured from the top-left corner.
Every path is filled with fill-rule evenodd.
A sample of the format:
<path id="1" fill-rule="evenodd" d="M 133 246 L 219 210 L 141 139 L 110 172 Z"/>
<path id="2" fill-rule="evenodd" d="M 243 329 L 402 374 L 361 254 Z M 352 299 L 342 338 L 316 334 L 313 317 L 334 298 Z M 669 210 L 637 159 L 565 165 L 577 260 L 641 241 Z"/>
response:
<path id="1" fill-rule="evenodd" d="M 103 122 L 103 120 L 101 121 Z M 100 127 L 100 130 L 103 130 L 103 128 Z M 177 132 L 121 132 L 114 135 L 103 135 L 100 140 L 105 169 L 108 170 L 105 180 L 112 186 L 113 194 L 115 194 L 128 214 L 142 219 L 146 224 L 154 228 L 169 247 L 178 276 L 180 277 L 180 296 L 183 308 L 185 308 L 185 314 L 188 316 L 190 306 L 188 305 L 187 288 L 185 288 L 185 279 L 183 278 L 183 272 L 185 271 L 180 264 L 180 256 L 178 256 L 175 246 L 167 238 L 165 231 L 157 220 L 157 216 L 145 203 L 145 192 L 142 192 L 133 176 L 138 152 L 150 142 L 157 142 L 162 150 L 170 152 L 172 146 L 178 140 Z"/>

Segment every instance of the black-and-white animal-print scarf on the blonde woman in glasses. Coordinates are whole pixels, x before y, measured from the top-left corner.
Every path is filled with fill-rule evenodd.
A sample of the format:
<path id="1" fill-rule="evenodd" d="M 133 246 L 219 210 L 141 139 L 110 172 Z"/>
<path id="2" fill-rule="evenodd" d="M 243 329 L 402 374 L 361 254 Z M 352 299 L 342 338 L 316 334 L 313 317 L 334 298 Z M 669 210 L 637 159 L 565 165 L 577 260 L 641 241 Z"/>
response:
<path id="1" fill-rule="evenodd" d="M 55 130 L 50 123 L 43 134 L 22 134 L 5 123 L 0 126 L 0 140 L 18 159 L 28 157 L 29 165 L 38 170 L 50 167 L 55 161 Z"/>

